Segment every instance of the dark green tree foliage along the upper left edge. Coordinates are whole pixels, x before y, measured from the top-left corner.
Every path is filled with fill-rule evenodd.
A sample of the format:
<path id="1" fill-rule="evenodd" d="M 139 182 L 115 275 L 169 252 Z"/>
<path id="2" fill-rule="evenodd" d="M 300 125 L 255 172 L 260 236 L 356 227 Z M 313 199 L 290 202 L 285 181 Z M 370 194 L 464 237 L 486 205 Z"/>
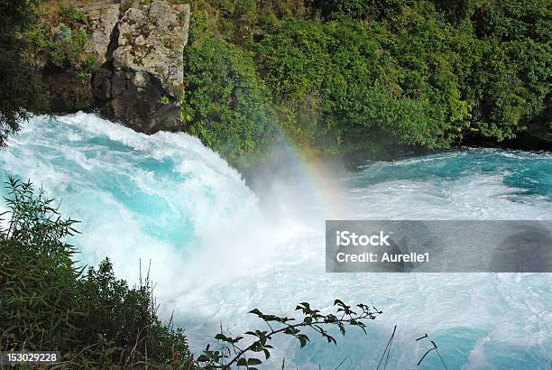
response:
<path id="1" fill-rule="evenodd" d="M 46 106 L 38 73 L 26 58 L 22 33 L 36 23 L 39 1 L 0 1 L 0 147 L 30 111 Z"/>

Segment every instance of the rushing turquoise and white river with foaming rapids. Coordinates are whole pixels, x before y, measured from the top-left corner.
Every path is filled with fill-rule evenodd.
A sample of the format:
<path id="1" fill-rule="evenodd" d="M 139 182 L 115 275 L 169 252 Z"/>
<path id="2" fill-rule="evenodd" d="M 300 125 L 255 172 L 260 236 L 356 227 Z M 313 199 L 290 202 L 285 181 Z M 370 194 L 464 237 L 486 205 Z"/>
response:
<path id="1" fill-rule="evenodd" d="M 552 219 L 552 155 L 463 149 L 367 162 L 326 178 L 298 160 L 298 178 L 241 175 L 186 134 L 137 134 L 97 116 L 34 117 L 0 152 L 0 179 L 15 175 L 62 200 L 82 221 L 78 259 L 113 259 L 135 281 L 151 261 L 161 315 L 174 310 L 194 350 L 222 323 L 232 334 L 260 323 L 247 314 L 322 310 L 334 299 L 383 310 L 368 335 L 338 346 L 278 343 L 269 367 L 375 368 L 394 325 L 389 368 L 416 368 L 428 333 L 448 369 L 552 368 L 552 275 L 325 273 L 324 221 L 353 219 Z M 290 180 L 291 179 L 291 180 Z M 5 191 L 5 190 L 2 190 Z M 421 368 L 443 368 L 435 353 Z"/>

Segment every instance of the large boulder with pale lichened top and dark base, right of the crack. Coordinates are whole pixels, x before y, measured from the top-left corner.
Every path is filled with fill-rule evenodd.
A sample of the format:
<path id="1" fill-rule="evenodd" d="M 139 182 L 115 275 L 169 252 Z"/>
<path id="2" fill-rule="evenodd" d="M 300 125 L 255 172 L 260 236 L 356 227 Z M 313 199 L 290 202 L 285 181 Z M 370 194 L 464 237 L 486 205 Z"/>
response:
<path id="1" fill-rule="evenodd" d="M 155 0 L 121 15 L 92 79 L 104 116 L 146 134 L 178 130 L 188 27 L 189 5 Z"/>

